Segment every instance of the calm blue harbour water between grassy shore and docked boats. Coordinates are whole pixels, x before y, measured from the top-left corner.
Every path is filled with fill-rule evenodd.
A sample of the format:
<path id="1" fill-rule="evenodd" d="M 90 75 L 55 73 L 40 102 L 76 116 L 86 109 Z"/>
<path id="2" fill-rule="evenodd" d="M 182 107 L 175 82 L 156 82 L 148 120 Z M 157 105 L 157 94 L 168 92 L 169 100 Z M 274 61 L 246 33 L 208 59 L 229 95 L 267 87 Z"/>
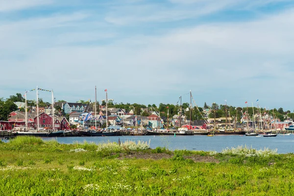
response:
<path id="1" fill-rule="evenodd" d="M 204 150 L 218 151 L 226 147 L 247 146 L 255 149 L 278 149 L 278 153 L 294 152 L 294 135 L 277 137 L 255 137 L 255 136 L 111 136 L 111 137 L 58 137 L 58 138 L 43 138 L 44 140 L 57 140 L 59 143 L 72 144 L 73 142 L 82 143 L 84 141 L 94 142 L 96 144 L 102 142 L 121 142 L 126 140 L 132 141 L 147 141 L 150 140 L 150 147 L 168 147 L 174 149 L 187 150 Z"/>

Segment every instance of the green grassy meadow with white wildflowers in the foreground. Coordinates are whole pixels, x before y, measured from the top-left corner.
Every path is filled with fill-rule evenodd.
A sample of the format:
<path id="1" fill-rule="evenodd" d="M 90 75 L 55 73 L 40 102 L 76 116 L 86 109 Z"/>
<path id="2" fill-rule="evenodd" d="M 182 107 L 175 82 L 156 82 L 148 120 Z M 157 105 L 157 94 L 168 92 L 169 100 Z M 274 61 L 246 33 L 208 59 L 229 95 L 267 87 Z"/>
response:
<path id="1" fill-rule="evenodd" d="M 0 142 L 0 195 L 294 195 L 294 154 L 249 147 L 221 153 L 149 148 L 149 142 Z"/>

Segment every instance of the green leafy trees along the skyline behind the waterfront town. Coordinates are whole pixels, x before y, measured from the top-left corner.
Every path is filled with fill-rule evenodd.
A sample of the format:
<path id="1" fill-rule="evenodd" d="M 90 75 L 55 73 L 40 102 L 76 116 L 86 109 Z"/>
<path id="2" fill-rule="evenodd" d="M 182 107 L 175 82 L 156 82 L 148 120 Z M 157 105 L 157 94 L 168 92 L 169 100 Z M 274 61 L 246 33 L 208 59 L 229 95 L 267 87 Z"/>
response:
<path id="1" fill-rule="evenodd" d="M 12 111 L 16 111 L 17 105 L 14 104 L 14 102 L 25 102 L 25 98 L 22 94 L 17 93 L 16 95 L 12 95 L 9 98 L 0 98 L 0 121 L 7 121 L 8 115 Z M 58 100 L 64 101 L 64 100 Z M 50 107 L 51 103 L 43 101 L 42 98 L 39 98 L 39 107 Z M 94 108 L 94 103 L 90 101 L 84 101 L 84 100 L 78 100 L 76 102 L 80 103 L 86 103 L 90 104 L 92 108 Z M 101 102 L 102 106 L 106 105 L 105 101 Z M 36 106 L 36 100 L 27 100 L 27 110 L 30 111 L 32 106 Z M 97 102 L 97 108 L 99 106 L 99 102 Z M 107 104 L 108 108 L 121 108 L 124 109 L 126 112 L 129 112 L 131 110 L 134 111 L 135 115 L 141 115 L 141 116 L 149 116 L 152 111 L 156 111 L 159 113 L 162 117 L 167 117 L 169 115 L 169 118 L 171 118 L 174 115 L 182 115 L 185 116 L 188 120 L 190 120 L 190 104 L 189 103 L 182 103 L 182 106 L 178 104 L 164 104 L 159 103 L 157 106 L 156 104 L 138 104 L 138 103 L 117 103 L 113 102 L 112 100 L 108 101 Z M 65 113 L 62 108 L 60 108 L 58 105 L 54 105 L 55 108 L 55 115 L 62 115 L 65 116 Z M 182 108 L 182 110 L 180 110 Z M 142 110 L 147 109 L 147 110 Z M 210 113 L 208 116 L 205 116 L 204 110 L 209 110 Z M 20 111 L 25 111 L 25 108 L 20 108 Z M 99 111 L 99 109 L 97 109 Z M 180 112 L 182 111 L 182 112 Z M 271 116 L 274 116 L 275 118 L 280 119 L 281 121 L 285 120 L 285 117 L 289 117 L 291 119 L 294 119 L 294 113 L 291 113 L 289 110 L 284 112 L 283 108 L 279 109 L 271 109 L 267 110 L 265 108 L 257 108 L 257 107 L 249 107 L 248 108 L 248 117 L 252 117 L 254 114 L 258 114 L 261 112 L 262 114 L 269 114 Z M 247 107 L 234 107 L 230 105 L 218 105 L 217 103 L 212 103 L 211 106 L 208 106 L 206 102 L 204 103 L 203 107 L 194 106 L 192 108 L 192 121 L 195 120 L 204 120 L 206 118 L 221 118 L 221 117 L 235 117 L 237 120 L 240 120 L 243 115 L 245 115 L 245 112 L 247 112 Z"/>

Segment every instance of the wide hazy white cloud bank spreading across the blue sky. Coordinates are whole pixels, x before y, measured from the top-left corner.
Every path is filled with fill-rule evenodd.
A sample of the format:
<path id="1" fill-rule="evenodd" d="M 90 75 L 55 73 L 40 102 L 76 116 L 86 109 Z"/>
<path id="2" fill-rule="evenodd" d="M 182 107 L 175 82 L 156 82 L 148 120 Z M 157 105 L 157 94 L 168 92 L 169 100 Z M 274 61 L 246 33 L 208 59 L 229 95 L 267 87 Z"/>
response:
<path id="1" fill-rule="evenodd" d="M 123 10 L 127 9 L 131 7 Z M 152 15 L 148 14 L 150 6 L 143 15 L 137 9 L 122 21 L 118 17 L 121 13 L 109 16 L 113 14 L 113 23 L 122 25 L 158 18 L 170 21 L 182 14 L 182 18 L 195 17 L 189 9 L 187 15 L 181 9 Z M 2 24 L 0 49 L 7 55 L 0 58 L 0 64 L 7 65 L 4 69 L 18 70 L 16 79 L 3 75 L 3 80 L 9 80 L 10 87 L 27 89 L 38 84 L 53 88 L 57 99 L 69 101 L 93 98 L 95 85 L 102 92 L 100 96 L 108 88 L 117 102 L 170 101 L 171 94 L 177 99 L 177 94 L 190 89 L 197 101 L 207 103 L 227 96 L 236 104 L 242 98 L 266 99 L 270 89 L 286 91 L 284 84 L 293 75 L 293 70 L 285 71 L 294 62 L 293 13 L 288 10 L 249 22 L 174 28 L 148 36 L 100 22 L 94 28 L 85 20 L 92 15 L 85 12 Z M 138 28 L 142 26 L 138 23 Z M 107 39 L 111 42 L 80 44 Z M 24 55 L 21 60 L 12 56 L 16 51 Z M 0 90 L 2 93 L 6 94 Z M 68 97 L 58 98 L 65 94 Z M 267 104 L 280 97 L 270 94 Z M 283 100 L 284 104 L 290 102 Z"/>

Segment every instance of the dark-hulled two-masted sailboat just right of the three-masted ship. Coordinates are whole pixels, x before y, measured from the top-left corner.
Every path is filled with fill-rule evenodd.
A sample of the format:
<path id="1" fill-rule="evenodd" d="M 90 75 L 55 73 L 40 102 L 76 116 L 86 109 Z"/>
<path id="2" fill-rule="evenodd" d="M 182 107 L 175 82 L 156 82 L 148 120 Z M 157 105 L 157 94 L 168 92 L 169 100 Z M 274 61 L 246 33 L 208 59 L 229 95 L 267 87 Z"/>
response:
<path id="1" fill-rule="evenodd" d="M 118 131 L 111 131 L 108 130 L 108 110 L 107 110 L 107 89 L 105 89 L 106 92 L 106 130 L 105 131 L 98 131 L 97 130 L 97 119 L 95 119 L 95 129 L 82 129 L 78 130 L 78 132 L 82 136 L 116 136 Z M 97 116 L 97 91 L 96 91 L 96 86 L 95 86 L 95 118 Z"/>

